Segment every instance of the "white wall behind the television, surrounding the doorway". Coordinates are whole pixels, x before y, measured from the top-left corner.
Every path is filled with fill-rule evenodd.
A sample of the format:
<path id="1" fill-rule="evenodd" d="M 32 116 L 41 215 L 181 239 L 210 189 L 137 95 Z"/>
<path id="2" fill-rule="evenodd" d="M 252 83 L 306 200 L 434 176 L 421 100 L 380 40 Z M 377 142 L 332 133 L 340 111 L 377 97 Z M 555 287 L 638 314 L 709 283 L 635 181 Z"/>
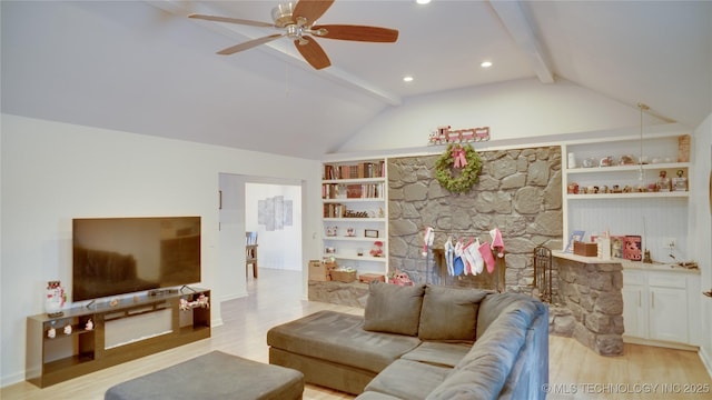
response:
<path id="1" fill-rule="evenodd" d="M 1 117 L 2 386 L 24 379 L 26 317 L 43 312 L 47 281 L 70 284 L 75 217 L 201 216 L 202 286 L 221 299 L 245 281 L 218 268 L 219 173 L 297 180 L 307 188 L 300 264 L 320 254 L 317 161 L 269 154 L 267 163 L 265 153 Z M 219 302 L 211 311 L 219 322 Z"/>

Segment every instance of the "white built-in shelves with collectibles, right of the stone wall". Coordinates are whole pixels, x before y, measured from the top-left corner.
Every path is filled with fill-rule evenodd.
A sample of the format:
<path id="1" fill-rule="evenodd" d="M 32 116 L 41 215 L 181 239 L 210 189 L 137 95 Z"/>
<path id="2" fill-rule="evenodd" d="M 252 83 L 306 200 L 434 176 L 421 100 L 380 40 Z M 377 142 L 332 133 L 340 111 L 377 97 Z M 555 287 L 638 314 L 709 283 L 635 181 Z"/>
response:
<path id="1" fill-rule="evenodd" d="M 657 130 L 642 139 L 631 134 L 563 144 L 564 246 L 573 231 L 585 231 L 586 240 L 605 231 L 637 234 L 653 259 L 669 262 L 663 242 L 675 238 L 676 257 L 685 259 L 688 199 L 695 189 L 688 184 L 694 173 L 685 151 L 690 140 L 685 132 Z M 671 184 L 680 173 L 684 184 L 660 190 L 662 171 Z"/>

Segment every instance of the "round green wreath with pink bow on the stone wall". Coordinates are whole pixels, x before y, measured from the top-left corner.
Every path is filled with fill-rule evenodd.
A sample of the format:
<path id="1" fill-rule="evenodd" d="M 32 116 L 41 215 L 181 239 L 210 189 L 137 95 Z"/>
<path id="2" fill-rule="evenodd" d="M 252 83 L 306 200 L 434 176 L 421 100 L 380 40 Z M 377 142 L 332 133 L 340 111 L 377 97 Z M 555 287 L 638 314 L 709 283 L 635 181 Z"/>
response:
<path id="1" fill-rule="evenodd" d="M 455 146 L 461 147 L 459 144 L 449 144 L 443 156 L 435 162 L 435 178 L 441 182 L 441 186 L 448 191 L 464 193 L 469 191 L 479 180 L 482 160 L 472 146 L 462 146 L 461 148 L 465 151 L 467 164 L 459 170 L 457 177 L 453 176 L 453 167 L 455 166 L 453 150 L 457 149 Z"/>

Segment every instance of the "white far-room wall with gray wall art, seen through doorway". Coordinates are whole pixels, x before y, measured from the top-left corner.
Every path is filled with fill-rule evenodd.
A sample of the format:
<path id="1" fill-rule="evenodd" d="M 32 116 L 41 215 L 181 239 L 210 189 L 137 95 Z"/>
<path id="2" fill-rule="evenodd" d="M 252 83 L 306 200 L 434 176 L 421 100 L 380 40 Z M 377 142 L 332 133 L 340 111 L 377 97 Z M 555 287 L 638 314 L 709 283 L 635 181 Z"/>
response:
<path id="1" fill-rule="evenodd" d="M 291 201 L 291 226 L 267 230 L 258 223 L 258 201 L 283 196 Z M 258 232 L 259 268 L 300 271 L 301 188 L 299 186 L 247 183 L 245 186 L 245 229 Z"/>

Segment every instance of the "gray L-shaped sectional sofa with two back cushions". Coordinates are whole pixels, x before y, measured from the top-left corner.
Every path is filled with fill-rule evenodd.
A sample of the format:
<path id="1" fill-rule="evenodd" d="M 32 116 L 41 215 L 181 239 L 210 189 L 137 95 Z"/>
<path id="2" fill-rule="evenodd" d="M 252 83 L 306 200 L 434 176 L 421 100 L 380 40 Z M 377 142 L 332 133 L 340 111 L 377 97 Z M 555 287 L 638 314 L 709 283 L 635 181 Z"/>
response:
<path id="1" fill-rule="evenodd" d="M 518 293 L 374 282 L 364 316 L 267 332 L 269 362 L 359 400 L 544 399 L 548 309 Z"/>

